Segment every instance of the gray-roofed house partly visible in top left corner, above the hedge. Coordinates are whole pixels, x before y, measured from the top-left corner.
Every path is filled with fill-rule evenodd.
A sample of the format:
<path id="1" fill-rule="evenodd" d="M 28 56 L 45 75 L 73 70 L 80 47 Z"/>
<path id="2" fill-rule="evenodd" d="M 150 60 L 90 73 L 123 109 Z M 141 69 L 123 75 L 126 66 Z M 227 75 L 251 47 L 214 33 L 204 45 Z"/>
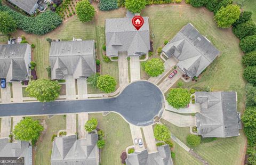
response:
<path id="1" fill-rule="evenodd" d="M 32 15 L 36 12 L 36 9 L 38 7 L 38 0 L 7 0 L 14 4 L 15 6 L 18 6 L 20 9 L 28 13 L 29 15 Z"/>

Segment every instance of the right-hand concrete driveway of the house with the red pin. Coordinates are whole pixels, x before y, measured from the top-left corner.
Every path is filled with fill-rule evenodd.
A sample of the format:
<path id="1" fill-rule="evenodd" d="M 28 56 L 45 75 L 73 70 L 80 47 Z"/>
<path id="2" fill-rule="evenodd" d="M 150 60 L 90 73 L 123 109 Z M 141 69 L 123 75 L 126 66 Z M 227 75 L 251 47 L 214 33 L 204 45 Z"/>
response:
<path id="1" fill-rule="evenodd" d="M 140 57 L 131 56 L 130 60 L 131 82 L 140 80 Z"/>

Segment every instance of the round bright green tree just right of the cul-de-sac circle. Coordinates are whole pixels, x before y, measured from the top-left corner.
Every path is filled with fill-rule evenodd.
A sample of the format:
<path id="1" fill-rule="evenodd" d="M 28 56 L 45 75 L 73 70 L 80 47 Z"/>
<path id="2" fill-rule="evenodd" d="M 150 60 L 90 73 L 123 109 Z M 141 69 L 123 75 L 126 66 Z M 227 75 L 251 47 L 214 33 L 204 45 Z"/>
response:
<path id="1" fill-rule="evenodd" d="M 188 89 L 183 88 L 171 89 L 167 96 L 167 102 L 176 109 L 185 108 L 190 100 L 191 98 Z"/>

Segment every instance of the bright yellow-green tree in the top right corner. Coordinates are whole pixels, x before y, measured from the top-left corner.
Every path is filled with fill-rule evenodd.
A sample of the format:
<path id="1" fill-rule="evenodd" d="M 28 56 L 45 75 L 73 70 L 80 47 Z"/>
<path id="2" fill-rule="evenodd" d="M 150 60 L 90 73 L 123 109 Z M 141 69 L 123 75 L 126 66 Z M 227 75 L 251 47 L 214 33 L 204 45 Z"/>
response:
<path id="1" fill-rule="evenodd" d="M 221 7 L 214 19 L 217 21 L 217 25 L 220 28 L 229 28 L 240 15 L 240 8 L 237 5 L 228 5 Z"/>

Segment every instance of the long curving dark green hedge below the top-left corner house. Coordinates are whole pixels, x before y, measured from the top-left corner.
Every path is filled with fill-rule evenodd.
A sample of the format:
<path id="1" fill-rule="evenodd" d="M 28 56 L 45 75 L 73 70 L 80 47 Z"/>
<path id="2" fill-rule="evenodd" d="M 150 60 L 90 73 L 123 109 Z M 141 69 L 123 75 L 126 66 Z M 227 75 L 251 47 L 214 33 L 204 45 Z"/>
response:
<path id="1" fill-rule="evenodd" d="M 46 11 L 36 17 L 22 15 L 7 6 L 0 6 L 0 11 L 10 14 L 19 29 L 36 35 L 44 35 L 62 23 L 61 17 L 52 11 Z"/>

